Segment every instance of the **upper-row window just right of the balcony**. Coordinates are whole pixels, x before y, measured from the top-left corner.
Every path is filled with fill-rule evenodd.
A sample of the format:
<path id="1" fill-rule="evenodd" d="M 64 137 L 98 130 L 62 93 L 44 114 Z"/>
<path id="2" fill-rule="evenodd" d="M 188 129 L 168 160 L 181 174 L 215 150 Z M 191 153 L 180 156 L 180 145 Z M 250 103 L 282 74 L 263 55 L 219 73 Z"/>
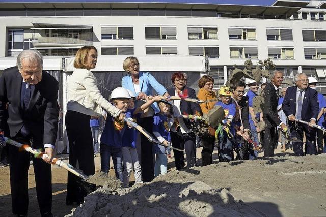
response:
<path id="1" fill-rule="evenodd" d="M 101 39 L 133 39 L 133 27 L 101 27 Z"/>

